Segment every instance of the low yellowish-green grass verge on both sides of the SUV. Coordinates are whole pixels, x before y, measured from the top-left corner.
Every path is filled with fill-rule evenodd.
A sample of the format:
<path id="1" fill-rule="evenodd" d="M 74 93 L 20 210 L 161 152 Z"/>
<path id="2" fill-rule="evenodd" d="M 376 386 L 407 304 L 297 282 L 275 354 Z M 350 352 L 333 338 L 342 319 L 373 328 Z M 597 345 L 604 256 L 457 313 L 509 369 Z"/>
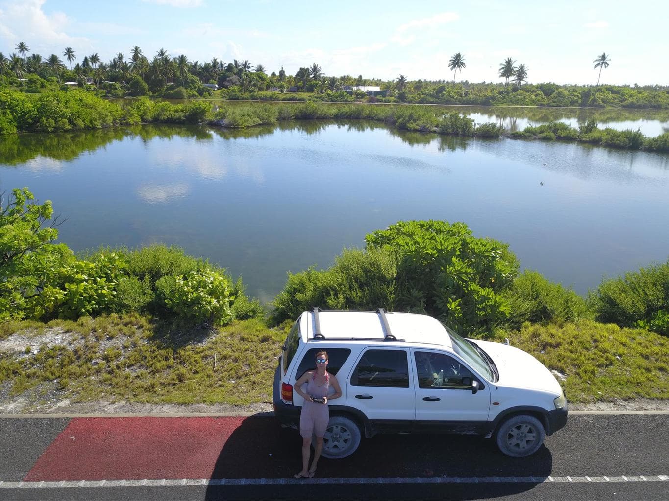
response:
<path id="1" fill-rule="evenodd" d="M 11 382 L 11 395 L 55 381 L 75 402 L 270 402 L 276 357 L 289 325 L 270 329 L 261 319 L 250 319 L 194 331 L 146 315 L 104 315 L 47 325 L 5 323 L 0 339 L 54 327 L 71 333 L 74 345 L 40 347 L 29 356 L 0 354 L 0 383 Z M 669 338 L 658 333 L 584 320 L 526 323 L 493 335 L 497 341 L 503 337 L 566 375 L 561 385 L 570 401 L 669 398 Z"/>

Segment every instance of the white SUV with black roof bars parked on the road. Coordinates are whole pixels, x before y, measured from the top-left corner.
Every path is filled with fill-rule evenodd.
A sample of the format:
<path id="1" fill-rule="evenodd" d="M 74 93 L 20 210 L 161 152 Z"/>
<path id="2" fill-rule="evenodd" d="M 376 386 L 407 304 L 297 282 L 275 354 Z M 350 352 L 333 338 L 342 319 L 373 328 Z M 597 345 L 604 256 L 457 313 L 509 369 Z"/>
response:
<path id="1" fill-rule="evenodd" d="M 298 427 L 293 385 L 320 350 L 343 393 L 330 404 L 326 458 L 350 456 L 362 436 L 407 432 L 494 437 L 522 458 L 567 423 L 565 394 L 529 353 L 464 339 L 427 315 L 314 308 L 290 330 L 274 377 L 284 425 Z"/>

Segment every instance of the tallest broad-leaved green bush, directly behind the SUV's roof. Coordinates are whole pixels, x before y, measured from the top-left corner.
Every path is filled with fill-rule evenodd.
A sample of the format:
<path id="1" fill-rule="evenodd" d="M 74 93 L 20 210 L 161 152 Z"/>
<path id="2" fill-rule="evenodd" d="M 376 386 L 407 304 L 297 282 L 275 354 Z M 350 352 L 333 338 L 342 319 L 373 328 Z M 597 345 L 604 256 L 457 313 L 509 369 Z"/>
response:
<path id="1" fill-rule="evenodd" d="M 463 222 L 440 220 L 400 221 L 365 239 L 368 249 L 389 246 L 399 257 L 399 309 L 429 313 L 465 333 L 506 319 L 501 292 L 518 273 L 507 244 L 476 238 Z"/>

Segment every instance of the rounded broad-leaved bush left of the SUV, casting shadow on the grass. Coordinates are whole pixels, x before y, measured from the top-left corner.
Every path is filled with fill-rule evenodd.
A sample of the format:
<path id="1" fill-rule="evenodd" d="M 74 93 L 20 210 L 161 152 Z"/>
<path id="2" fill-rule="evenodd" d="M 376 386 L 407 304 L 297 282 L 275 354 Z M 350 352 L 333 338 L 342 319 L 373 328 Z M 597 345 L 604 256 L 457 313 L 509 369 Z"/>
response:
<path id="1" fill-rule="evenodd" d="M 233 320 L 231 306 L 235 297 L 230 281 L 213 270 L 175 277 L 163 299 L 167 309 L 196 323 L 225 325 Z"/>

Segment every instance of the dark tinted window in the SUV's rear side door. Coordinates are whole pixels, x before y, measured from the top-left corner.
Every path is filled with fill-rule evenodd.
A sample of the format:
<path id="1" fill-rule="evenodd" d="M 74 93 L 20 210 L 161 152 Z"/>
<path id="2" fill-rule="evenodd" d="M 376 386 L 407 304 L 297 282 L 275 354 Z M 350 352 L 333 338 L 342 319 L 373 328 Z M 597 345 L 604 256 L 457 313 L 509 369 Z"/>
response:
<path id="1" fill-rule="evenodd" d="M 368 349 L 351 375 L 353 386 L 409 387 L 405 350 Z"/>

